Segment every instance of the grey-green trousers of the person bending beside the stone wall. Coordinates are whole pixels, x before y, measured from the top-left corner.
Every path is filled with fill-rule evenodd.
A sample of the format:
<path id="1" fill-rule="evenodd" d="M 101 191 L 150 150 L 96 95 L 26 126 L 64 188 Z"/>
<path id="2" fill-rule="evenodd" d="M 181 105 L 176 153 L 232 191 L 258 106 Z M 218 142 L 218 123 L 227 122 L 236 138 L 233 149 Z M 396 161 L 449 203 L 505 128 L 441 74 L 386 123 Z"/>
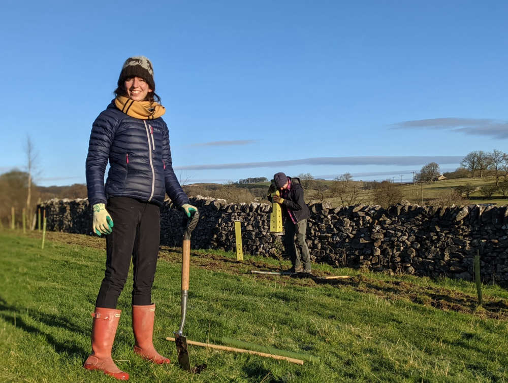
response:
<path id="1" fill-rule="evenodd" d="M 311 269 L 309 248 L 305 241 L 307 231 L 307 220 L 301 220 L 294 224 L 291 218 L 286 218 L 284 222 L 284 249 L 291 257 L 291 262 L 295 269 L 303 267 L 306 270 Z M 296 237 L 296 238 L 295 238 Z"/>

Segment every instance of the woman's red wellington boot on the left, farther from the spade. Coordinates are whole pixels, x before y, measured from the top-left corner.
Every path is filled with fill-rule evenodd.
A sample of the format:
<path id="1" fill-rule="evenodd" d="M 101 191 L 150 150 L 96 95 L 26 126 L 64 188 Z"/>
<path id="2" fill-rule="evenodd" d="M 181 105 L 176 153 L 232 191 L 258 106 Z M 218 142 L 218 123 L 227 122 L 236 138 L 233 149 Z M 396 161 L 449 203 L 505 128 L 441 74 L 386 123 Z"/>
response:
<path id="1" fill-rule="evenodd" d="M 116 367 L 111 358 L 111 349 L 121 312 L 121 310 L 103 307 L 96 307 L 95 312 L 92 312 L 92 353 L 83 367 L 88 370 L 103 371 L 106 375 L 118 380 L 129 380 L 129 374 Z"/>

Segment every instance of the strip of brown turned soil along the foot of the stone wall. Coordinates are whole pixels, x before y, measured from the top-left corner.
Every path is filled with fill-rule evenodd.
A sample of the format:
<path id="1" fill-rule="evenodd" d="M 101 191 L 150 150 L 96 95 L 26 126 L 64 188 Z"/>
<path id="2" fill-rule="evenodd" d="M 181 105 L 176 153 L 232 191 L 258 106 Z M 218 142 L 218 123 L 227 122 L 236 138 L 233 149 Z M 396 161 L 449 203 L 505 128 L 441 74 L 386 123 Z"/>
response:
<path id="1" fill-rule="evenodd" d="M 30 237 L 42 238 L 42 232 L 30 231 Z M 46 239 L 55 242 L 79 245 L 94 249 L 106 249 L 106 241 L 103 237 L 82 234 L 69 234 L 60 232 L 47 232 Z M 460 291 L 438 288 L 434 286 L 420 286 L 406 281 L 382 281 L 363 274 L 351 276 L 347 279 L 324 279 L 332 273 L 321 270 L 313 270 L 313 275 L 268 275 L 251 274 L 250 270 L 281 271 L 288 267 L 280 263 L 278 266 L 263 261 L 236 261 L 225 256 L 191 251 L 191 264 L 193 267 L 201 267 L 207 270 L 226 272 L 240 275 L 248 274 L 252 278 L 262 281 L 270 281 L 278 284 L 292 284 L 294 286 L 312 287 L 316 285 L 331 285 L 337 288 L 348 287 L 354 291 L 366 294 L 374 294 L 388 300 L 407 300 L 423 306 L 434 307 L 444 311 L 457 311 L 464 314 L 474 315 L 480 318 L 491 318 L 501 321 L 508 320 L 508 301 L 495 297 L 484 296 L 482 306 L 478 306 L 477 297 Z M 159 258 L 172 263 L 181 262 L 181 248 L 161 247 Z"/>

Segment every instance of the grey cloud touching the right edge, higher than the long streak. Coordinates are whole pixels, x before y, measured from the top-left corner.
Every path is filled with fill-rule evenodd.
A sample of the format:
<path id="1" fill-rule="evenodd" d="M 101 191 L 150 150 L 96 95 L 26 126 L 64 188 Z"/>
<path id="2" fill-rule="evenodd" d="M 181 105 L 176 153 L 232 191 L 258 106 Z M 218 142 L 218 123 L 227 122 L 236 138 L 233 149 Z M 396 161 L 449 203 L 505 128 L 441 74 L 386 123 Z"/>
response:
<path id="1" fill-rule="evenodd" d="M 393 124 L 391 129 L 442 129 L 499 140 L 508 138 L 508 123 L 489 118 L 444 117 L 402 121 Z"/>

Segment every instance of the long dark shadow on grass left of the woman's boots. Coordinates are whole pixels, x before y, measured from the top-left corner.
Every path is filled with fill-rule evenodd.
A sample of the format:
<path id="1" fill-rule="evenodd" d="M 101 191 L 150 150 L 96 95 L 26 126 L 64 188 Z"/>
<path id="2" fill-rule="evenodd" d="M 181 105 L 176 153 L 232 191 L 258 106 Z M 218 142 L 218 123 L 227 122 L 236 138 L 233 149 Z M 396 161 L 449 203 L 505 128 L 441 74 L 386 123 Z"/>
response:
<path id="1" fill-rule="evenodd" d="M 33 309 L 19 308 L 8 304 L 7 301 L 2 297 L 0 297 L 0 311 L 7 311 L 0 312 L 0 317 L 3 318 L 6 322 L 12 324 L 14 327 L 21 328 L 23 331 L 26 331 L 29 334 L 44 336 L 48 344 L 50 344 L 58 354 L 67 354 L 70 357 L 78 357 L 83 360 L 89 354 L 89 350 L 83 350 L 72 340 L 56 340 L 53 335 L 44 332 L 43 330 L 34 327 L 33 325 L 29 325 L 23 319 L 23 316 L 29 315 L 31 318 L 40 322 L 41 324 L 45 324 L 56 329 L 68 330 L 71 332 L 71 336 L 69 337 L 71 339 L 73 338 L 73 333 L 89 335 L 89 331 L 84 331 L 82 328 L 70 324 L 67 318 L 49 316 Z"/>

